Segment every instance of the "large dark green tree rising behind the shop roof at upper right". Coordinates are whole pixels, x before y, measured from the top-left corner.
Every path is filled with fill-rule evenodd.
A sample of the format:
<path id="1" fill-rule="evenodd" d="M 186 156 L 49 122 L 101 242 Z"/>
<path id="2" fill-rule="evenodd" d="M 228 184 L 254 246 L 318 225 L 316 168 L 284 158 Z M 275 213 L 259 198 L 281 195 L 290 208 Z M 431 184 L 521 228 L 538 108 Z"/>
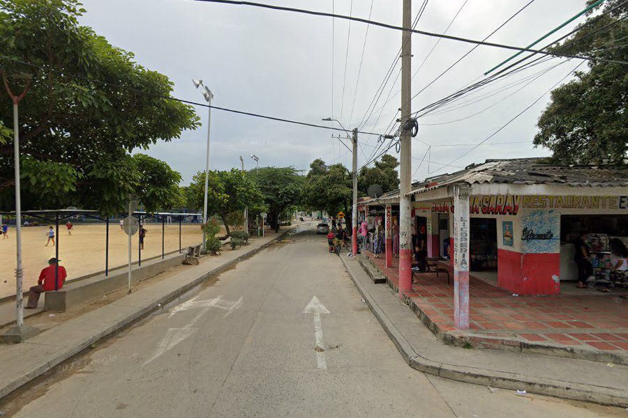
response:
<path id="1" fill-rule="evenodd" d="M 592 3 L 592 1 L 589 1 Z M 625 164 L 628 138 L 628 4 L 609 0 L 602 15 L 590 16 L 580 30 L 554 49 L 590 56 L 588 71 L 555 88 L 537 123 L 535 146 L 553 152 L 561 164 Z M 602 7 L 602 6 L 600 6 Z"/>

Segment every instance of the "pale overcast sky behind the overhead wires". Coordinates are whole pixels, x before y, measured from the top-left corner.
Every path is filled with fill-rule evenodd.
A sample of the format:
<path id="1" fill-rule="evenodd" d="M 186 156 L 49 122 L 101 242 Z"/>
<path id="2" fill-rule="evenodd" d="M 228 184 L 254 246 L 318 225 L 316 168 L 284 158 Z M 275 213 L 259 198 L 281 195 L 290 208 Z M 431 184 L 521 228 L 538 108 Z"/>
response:
<path id="1" fill-rule="evenodd" d="M 338 14 L 351 12 L 353 16 L 364 18 L 368 17 L 372 2 L 264 1 L 327 12 L 333 7 Z M 451 24 L 449 35 L 481 40 L 529 1 L 431 0 L 417 28 L 442 33 Z M 412 1 L 413 16 L 423 2 Z M 192 78 L 199 78 L 214 92 L 217 106 L 308 123 L 322 123 L 321 118 L 333 116 L 347 129 L 363 120 L 401 46 L 400 31 L 370 26 L 365 44 L 366 24 L 350 24 L 347 20 L 332 22 L 329 17 L 191 0 L 83 0 L 83 3 L 87 9 L 82 17 L 83 24 L 92 26 L 113 45 L 133 52 L 138 63 L 170 77 L 175 84 L 174 95 L 179 98 L 202 102 L 200 91 L 191 82 Z M 534 1 L 489 40 L 528 45 L 584 7 L 584 0 Z M 460 13 L 451 23 L 458 10 Z M 401 1 L 373 0 L 371 19 L 401 25 L 401 11 Z M 574 24 L 583 20 L 581 17 Z M 567 33 L 574 24 L 549 39 Z M 413 74 L 418 69 L 412 81 L 413 93 L 473 47 L 441 40 L 429 54 L 436 42 L 437 39 L 426 36 L 415 34 L 412 37 Z M 412 101 L 412 109 L 420 109 L 453 93 L 512 54 L 505 49 L 478 47 L 418 95 Z M 538 79 L 529 77 L 560 62 L 553 59 L 512 75 L 450 104 L 438 114 L 419 118 L 419 134 L 412 141 L 412 178 L 455 171 L 456 167 L 486 158 L 548 155 L 546 150 L 532 147 L 532 137 L 537 132 L 535 123 L 549 99 L 549 95 L 545 95 L 486 144 L 451 163 L 532 104 L 578 64 L 578 61 L 565 62 Z M 398 71 L 397 66 L 377 102 L 376 111 L 362 130 L 384 132 L 394 118 L 401 105 L 400 95 L 396 94 L 401 80 L 397 79 L 393 85 Z M 530 84 L 521 88 L 527 82 Z M 519 88 L 521 91 L 517 91 Z M 384 105 L 389 91 L 389 101 Z M 157 144 L 148 151 L 181 172 L 184 183 L 190 181 L 193 173 L 204 169 L 207 109 L 198 108 L 197 112 L 202 118 L 202 128 L 184 132 L 181 139 Z M 467 118 L 476 113 L 479 114 Z M 461 118 L 465 120 L 456 121 Z M 361 166 L 377 145 L 377 137 L 363 135 L 359 142 Z M 428 151 L 426 144 L 432 146 L 426 158 L 430 163 L 423 162 L 419 166 Z M 338 139 L 331 138 L 328 130 L 218 110 L 211 115 L 210 153 L 212 169 L 240 167 L 240 155 L 245 158 L 246 168 L 255 167 L 249 157 L 251 153 L 260 157 L 262 166 L 292 165 L 307 169 L 317 157 L 328 163 L 351 164 L 347 148 L 339 144 Z M 394 149 L 391 153 L 396 155 Z M 451 163 L 456 167 L 438 163 Z"/>

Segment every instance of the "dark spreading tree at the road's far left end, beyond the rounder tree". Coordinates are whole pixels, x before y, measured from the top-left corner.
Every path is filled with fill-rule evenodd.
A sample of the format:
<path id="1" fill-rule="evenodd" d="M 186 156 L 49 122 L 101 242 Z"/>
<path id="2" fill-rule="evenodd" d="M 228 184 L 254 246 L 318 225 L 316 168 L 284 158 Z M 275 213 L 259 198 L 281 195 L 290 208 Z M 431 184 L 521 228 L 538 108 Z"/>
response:
<path id="1" fill-rule="evenodd" d="M 299 203 L 304 177 L 294 167 L 262 167 L 248 171 L 246 175 L 262 193 L 268 210 L 267 222 L 279 231 L 278 217 L 283 210 Z"/>

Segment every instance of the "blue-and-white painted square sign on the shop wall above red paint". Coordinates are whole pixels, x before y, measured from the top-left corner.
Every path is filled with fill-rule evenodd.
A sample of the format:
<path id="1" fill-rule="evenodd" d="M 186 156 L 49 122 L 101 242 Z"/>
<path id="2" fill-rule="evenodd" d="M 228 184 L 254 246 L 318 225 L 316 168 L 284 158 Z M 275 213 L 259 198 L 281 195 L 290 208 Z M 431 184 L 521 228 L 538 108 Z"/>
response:
<path id="1" fill-rule="evenodd" d="M 532 210 L 521 222 L 521 245 L 528 254 L 560 251 L 560 213 L 555 210 Z"/>

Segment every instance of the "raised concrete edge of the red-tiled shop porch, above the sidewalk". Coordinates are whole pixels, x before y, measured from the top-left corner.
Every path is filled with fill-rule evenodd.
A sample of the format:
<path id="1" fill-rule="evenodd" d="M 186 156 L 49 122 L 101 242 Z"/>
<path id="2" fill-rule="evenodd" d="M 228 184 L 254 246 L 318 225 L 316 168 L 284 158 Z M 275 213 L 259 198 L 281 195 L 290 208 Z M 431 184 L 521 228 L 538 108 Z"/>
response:
<path id="1" fill-rule="evenodd" d="M 374 268 L 378 274 L 382 274 L 386 278 L 388 286 L 395 291 L 399 292 L 398 286 L 396 286 L 388 277 L 377 267 L 368 257 L 359 256 L 359 258 L 365 258 L 360 260 L 360 265 L 368 264 Z M 367 271 L 369 275 L 370 272 Z M 383 282 L 383 281 L 382 281 Z M 406 302 L 414 314 L 419 317 L 422 323 L 430 330 L 438 339 L 442 339 L 451 346 L 481 348 L 485 350 L 502 350 L 510 351 L 511 353 L 524 353 L 534 355 L 548 355 L 553 357 L 565 357 L 570 359 L 585 359 L 591 362 L 601 363 L 614 363 L 628 365 L 628 355 L 622 353 L 611 353 L 604 350 L 596 350 L 595 348 L 581 348 L 581 347 L 565 347 L 553 344 L 550 341 L 547 342 L 534 342 L 526 341 L 518 338 L 500 337 L 494 338 L 487 336 L 486 334 L 470 334 L 464 331 L 444 331 L 441 327 L 433 322 L 433 320 L 424 313 L 423 309 L 417 305 L 412 297 L 406 297 Z"/>

